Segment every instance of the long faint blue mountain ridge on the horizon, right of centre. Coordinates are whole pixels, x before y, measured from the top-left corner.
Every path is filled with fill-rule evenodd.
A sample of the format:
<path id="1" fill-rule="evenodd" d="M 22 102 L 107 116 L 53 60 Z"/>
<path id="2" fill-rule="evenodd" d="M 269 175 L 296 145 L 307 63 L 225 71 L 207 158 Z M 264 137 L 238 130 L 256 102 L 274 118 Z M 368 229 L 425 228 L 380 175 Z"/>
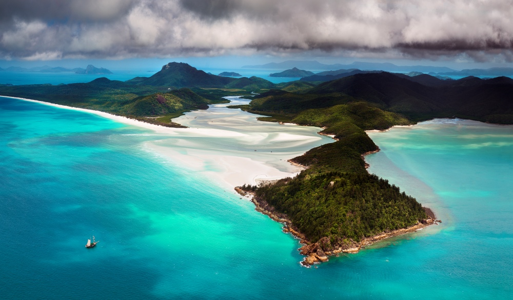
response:
<path id="1" fill-rule="evenodd" d="M 283 63 L 269 63 L 265 65 L 243 66 L 251 69 L 290 69 L 292 67 L 310 70 L 339 70 L 339 69 L 360 69 L 360 70 L 382 70 L 388 72 L 455 72 L 456 70 L 447 67 L 431 66 L 396 66 L 390 63 L 366 63 L 354 62 L 349 65 L 333 64 L 326 65 L 317 61 L 286 61 Z"/>

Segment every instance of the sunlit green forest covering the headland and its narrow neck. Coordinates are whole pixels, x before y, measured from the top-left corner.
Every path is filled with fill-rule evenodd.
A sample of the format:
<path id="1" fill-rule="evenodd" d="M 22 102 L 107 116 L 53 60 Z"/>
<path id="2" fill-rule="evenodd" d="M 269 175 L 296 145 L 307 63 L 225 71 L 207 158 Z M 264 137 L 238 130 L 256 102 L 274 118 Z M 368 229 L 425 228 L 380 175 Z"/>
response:
<path id="1" fill-rule="evenodd" d="M 267 121 L 279 119 L 274 115 Z M 299 176 L 252 188 L 257 197 L 287 214 L 310 242 L 326 236 L 329 243 L 324 243 L 324 250 L 332 250 L 379 232 L 415 225 L 427 217 L 415 199 L 368 174 L 361 157 L 378 150 L 364 130 L 410 124 L 406 118 L 354 102 L 307 109 L 290 122 L 326 127 L 322 133 L 333 134 L 338 141 L 293 158 L 309 167 Z"/>

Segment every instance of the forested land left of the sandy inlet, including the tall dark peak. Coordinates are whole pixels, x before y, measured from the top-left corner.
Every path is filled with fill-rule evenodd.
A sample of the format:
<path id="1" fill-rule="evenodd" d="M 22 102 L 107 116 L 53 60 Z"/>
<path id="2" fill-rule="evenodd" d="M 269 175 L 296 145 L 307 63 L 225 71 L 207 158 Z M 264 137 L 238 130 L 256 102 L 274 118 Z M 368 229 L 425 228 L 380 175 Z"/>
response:
<path id="1" fill-rule="evenodd" d="M 91 72 L 94 67 L 88 66 Z M 98 69 L 100 70 L 100 69 Z M 0 85 L 0 95 L 104 111 L 144 122 L 177 127 L 171 118 L 208 104 L 227 103 L 227 95 L 249 95 L 274 84 L 258 77 L 229 78 L 207 74 L 183 63 L 169 63 L 151 77 L 126 82 L 105 77 L 68 85 Z M 193 91 L 191 89 L 193 89 Z"/>

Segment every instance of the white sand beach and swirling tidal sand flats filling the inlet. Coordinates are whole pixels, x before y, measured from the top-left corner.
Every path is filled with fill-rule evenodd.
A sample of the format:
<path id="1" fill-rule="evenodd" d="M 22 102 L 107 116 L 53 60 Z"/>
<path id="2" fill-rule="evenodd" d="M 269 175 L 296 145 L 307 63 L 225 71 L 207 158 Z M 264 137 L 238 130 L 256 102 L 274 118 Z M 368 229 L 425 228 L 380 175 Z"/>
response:
<path id="1" fill-rule="evenodd" d="M 248 102 L 238 97 L 229 98 L 232 101 L 229 105 Z M 287 159 L 333 142 L 330 137 L 317 134 L 321 128 L 257 121 L 258 115 L 228 109 L 228 104 L 188 112 L 173 122 L 189 128 L 169 128 L 101 111 L 17 99 L 93 113 L 149 129 L 152 138 L 143 144 L 143 149 L 230 189 L 259 184 L 263 179 L 295 176 L 302 167 L 291 165 Z"/>

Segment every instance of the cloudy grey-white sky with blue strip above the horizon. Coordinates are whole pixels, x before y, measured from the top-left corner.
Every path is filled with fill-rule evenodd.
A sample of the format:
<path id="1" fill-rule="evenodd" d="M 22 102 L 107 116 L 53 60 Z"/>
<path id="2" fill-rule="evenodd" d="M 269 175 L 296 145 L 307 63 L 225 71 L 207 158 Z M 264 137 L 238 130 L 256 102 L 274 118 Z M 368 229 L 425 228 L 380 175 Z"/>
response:
<path id="1" fill-rule="evenodd" d="M 0 2 L 0 66 L 290 59 L 513 66 L 513 0 Z"/>

